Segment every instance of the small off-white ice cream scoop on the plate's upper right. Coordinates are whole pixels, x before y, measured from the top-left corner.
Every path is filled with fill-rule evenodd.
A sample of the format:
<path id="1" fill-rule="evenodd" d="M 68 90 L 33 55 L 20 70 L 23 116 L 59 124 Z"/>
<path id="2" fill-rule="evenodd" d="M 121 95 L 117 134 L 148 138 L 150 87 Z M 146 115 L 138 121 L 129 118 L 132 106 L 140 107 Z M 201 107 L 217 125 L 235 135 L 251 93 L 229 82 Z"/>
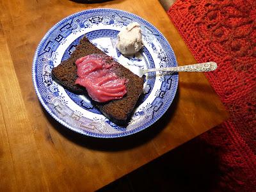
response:
<path id="1" fill-rule="evenodd" d="M 140 51 L 143 44 L 141 42 L 141 28 L 138 22 L 132 22 L 127 25 L 117 35 L 118 42 L 116 44 L 117 49 L 124 55 L 131 55 Z"/>

